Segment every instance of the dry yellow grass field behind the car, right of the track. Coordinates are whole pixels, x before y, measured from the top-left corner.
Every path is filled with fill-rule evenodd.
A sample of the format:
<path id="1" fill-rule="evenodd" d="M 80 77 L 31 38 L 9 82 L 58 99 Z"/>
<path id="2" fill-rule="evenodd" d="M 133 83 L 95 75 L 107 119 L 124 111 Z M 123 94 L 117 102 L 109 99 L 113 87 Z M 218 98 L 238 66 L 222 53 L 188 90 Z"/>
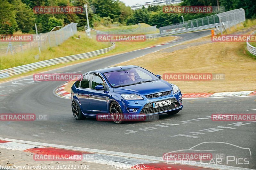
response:
<path id="1" fill-rule="evenodd" d="M 203 39 L 210 40 L 209 37 Z M 225 80 L 219 81 L 172 81 L 183 93 L 256 90 L 256 60 L 246 55 L 244 42 L 206 43 L 171 53 L 159 51 L 118 65 L 128 64 L 139 65 L 161 75 L 164 73 L 225 74 Z"/>

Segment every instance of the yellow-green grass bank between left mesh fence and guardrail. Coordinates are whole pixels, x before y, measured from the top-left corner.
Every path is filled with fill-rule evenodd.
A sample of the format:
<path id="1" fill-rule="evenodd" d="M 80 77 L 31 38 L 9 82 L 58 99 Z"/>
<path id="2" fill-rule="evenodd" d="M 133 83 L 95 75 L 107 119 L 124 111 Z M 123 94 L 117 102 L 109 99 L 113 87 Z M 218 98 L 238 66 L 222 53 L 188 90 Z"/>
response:
<path id="1" fill-rule="evenodd" d="M 80 39 L 75 38 L 78 35 L 80 35 Z M 0 56 L 0 70 L 68 55 L 86 53 L 107 48 L 109 46 L 109 42 L 98 42 L 95 38 L 88 38 L 84 32 L 78 32 L 77 35 L 70 37 L 61 45 L 42 50 L 38 59 L 35 57 L 39 53 L 38 48 L 18 52 L 15 55 L 2 55 Z"/>

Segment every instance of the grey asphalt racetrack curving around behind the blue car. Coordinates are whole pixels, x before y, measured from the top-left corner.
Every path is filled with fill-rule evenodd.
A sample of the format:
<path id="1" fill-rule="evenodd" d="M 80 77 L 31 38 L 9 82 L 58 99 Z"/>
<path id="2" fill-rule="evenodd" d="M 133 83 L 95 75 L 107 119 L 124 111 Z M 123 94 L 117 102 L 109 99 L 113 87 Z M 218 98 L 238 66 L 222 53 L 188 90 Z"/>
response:
<path id="1" fill-rule="evenodd" d="M 210 30 L 184 33 L 179 35 L 184 38 L 167 45 L 114 55 L 47 73 L 84 74 L 210 33 Z M 33 82 L 32 76 L 0 84 L 0 113 L 34 113 L 48 117 L 48 120 L 44 121 L 0 121 L 0 136 L 157 157 L 162 157 L 167 152 L 189 149 L 204 142 L 222 142 L 204 143 L 197 146 L 197 149 L 221 150 L 221 153 L 226 155 L 247 158 L 248 151 L 241 148 L 250 148 L 249 164 L 238 165 L 234 161 L 228 165 L 255 168 L 256 122 L 214 122 L 209 116 L 216 113 L 256 113 L 256 110 L 247 111 L 256 109 L 256 96 L 184 99 L 183 110 L 177 115 L 161 114 L 158 121 L 126 122 L 117 125 L 93 118 L 76 121 L 71 111 L 71 100 L 60 98 L 53 92 L 61 84 L 63 82 Z M 224 151 L 225 149 L 227 151 Z"/>

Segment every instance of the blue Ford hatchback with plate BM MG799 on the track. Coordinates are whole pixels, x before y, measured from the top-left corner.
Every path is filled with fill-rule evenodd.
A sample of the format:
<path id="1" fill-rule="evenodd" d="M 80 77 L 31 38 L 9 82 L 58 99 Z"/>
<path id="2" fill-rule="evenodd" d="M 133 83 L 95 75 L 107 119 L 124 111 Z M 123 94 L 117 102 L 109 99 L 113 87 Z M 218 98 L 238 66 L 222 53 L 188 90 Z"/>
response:
<path id="1" fill-rule="evenodd" d="M 71 97 L 76 120 L 105 114 L 117 124 L 124 123 L 124 114 L 174 115 L 183 107 L 178 86 L 133 65 L 85 73 L 71 87 Z"/>

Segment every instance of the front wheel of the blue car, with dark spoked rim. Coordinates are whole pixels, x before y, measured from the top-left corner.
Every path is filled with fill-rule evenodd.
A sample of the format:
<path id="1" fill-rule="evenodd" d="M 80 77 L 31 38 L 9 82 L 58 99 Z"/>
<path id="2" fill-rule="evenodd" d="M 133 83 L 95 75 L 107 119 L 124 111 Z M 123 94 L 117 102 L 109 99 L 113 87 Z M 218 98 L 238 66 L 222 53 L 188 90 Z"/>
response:
<path id="1" fill-rule="evenodd" d="M 117 102 L 113 101 L 110 104 L 110 115 L 112 120 L 116 124 L 123 124 L 124 123 L 124 115 L 122 114 L 122 110 L 120 109 Z"/>

